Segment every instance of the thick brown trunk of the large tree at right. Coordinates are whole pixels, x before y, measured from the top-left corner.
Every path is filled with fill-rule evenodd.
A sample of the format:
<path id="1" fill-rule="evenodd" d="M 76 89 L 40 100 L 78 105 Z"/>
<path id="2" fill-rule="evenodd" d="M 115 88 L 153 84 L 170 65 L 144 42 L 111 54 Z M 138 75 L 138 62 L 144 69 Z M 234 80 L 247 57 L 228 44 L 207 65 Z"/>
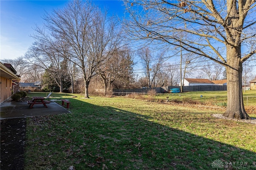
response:
<path id="1" fill-rule="evenodd" d="M 250 119 L 244 109 L 240 55 L 240 48 L 227 47 L 227 64 L 229 65 L 226 66 L 228 104 L 223 115 L 229 118 Z"/>

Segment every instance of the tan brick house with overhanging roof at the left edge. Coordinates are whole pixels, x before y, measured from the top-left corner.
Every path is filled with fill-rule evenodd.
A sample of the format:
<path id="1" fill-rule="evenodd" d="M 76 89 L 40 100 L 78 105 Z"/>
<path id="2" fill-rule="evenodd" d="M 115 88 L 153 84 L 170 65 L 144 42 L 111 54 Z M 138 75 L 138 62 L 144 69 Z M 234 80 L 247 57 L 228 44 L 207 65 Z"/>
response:
<path id="1" fill-rule="evenodd" d="M 15 86 L 15 83 L 20 81 L 20 76 L 16 73 L 16 70 L 12 67 L 11 64 L 3 64 L 0 62 L 0 103 L 4 102 L 12 96 L 12 90 L 14 93 L 19 90 Z M 13 82 L 15 83 L 13 84 Z"/>

